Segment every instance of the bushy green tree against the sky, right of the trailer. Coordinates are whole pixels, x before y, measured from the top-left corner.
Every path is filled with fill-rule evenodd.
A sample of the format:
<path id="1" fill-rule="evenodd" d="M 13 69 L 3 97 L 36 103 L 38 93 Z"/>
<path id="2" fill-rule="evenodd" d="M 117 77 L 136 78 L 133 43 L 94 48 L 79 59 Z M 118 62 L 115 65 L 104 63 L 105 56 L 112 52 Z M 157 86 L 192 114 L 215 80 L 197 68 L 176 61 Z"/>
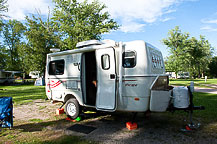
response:
<path id="1" fill-rule="evenodd" d="M 200 36 L 199 40 L 190 38 L 188 33 L 183 34 L 179 27 L 175 27 L 162 42 L 170 50 L 166 66 L 171 70 L 176 73 L 188 71 L 194 77 L 201 77 L 208 70 L 213 48 L 204 36 Z"/>

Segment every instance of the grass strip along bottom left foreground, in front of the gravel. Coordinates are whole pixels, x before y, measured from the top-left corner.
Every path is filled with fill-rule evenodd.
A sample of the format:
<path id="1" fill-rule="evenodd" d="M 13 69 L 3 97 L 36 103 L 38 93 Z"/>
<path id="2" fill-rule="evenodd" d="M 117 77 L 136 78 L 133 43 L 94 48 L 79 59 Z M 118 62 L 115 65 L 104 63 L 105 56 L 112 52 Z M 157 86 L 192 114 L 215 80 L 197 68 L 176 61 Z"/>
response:
<path id="1" fill-rule="evenodd" d="M 52 137 L 52 138 L 49 138 Z M 4 139 L 1 139 L 4 138 Z M 52 131 L 43 130 L 39 132 L 22 132 L 20 130 L 3 129 L 0 133 L 0 143 L 14 144 L 95 144 L 79 136 L 61 135 Z"/>

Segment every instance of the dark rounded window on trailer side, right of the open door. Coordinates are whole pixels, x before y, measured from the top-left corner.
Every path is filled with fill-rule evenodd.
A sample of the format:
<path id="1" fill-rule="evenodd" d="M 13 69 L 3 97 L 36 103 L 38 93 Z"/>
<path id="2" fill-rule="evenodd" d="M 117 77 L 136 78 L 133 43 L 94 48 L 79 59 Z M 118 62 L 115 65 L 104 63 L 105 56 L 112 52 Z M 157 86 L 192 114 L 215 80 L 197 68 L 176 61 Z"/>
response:
<path id="1" fill-rule="evenodd" d="M 124 68 L 133 68 L 136 66 L 136 52 L 135 51 L 127 51 L 122 55 Z"/>

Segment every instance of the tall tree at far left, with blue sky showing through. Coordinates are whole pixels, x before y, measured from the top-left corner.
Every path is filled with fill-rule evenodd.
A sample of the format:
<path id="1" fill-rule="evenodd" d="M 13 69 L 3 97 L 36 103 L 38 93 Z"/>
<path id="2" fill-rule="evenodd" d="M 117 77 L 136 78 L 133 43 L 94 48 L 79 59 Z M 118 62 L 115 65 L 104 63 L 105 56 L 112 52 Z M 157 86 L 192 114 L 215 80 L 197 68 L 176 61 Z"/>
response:
<path id="1" fill-rule="evenodd" d="M 18 55 L 19 46 L 22 43 L 25 26 L 17 20 L 9 20 L 3 26 L 2 38 L 5 45 L 4 53 L 9 56 L 6 60 L 7 70 L 21 70 Z"/>

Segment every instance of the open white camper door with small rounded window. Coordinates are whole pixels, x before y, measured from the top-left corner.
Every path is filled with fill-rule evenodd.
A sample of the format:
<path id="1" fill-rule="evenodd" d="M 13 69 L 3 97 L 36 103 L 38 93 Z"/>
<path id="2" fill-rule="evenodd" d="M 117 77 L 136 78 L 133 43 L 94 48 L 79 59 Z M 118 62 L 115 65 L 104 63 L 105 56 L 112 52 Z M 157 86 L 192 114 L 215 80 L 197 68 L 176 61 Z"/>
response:
<path id="1" fill-rule="evenodd" d="M 114 111 L 116 109 L 116 70 L 113 48 L 96 50 L 97 61 L 97 97 L 98 110 Z"/>

